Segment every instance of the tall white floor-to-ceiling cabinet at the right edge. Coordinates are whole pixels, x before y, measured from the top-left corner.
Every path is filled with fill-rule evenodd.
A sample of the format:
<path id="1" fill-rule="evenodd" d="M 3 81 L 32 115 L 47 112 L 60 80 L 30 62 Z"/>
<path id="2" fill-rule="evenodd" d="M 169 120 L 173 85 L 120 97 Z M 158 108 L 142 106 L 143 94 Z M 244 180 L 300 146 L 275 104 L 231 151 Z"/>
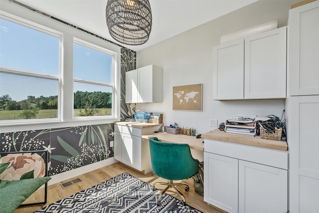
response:
<path id="1" fill-rule="evenodd" d="M 319 213 L 319 1 L 289 11 L 289 210 Z"/>

